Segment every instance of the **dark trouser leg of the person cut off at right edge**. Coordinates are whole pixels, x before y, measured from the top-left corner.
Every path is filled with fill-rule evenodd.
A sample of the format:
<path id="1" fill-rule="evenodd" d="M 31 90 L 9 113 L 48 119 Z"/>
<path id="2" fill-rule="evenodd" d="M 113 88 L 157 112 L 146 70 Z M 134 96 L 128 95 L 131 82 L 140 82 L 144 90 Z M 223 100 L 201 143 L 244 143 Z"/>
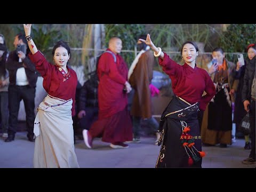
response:
<path id="1" fill-rule="evenodd" d="M 251 129 L 251 153 L 249 157 L 255 159 L 256 144 L 255 144 L 255 101 L 254 100 L 252 100 L 250 103 L 249 116 L 250 116 L 250 129 Z"/>

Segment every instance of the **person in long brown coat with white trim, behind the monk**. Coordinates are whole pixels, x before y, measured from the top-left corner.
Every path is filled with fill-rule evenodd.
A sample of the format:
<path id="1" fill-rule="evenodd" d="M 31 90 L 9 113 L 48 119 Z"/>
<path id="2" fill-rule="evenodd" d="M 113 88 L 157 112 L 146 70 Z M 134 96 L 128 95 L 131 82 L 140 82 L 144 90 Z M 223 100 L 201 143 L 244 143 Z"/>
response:
<path id="1" fill-rule="evenodd" d="M 139 38 L 146 39 L 146 35 Z M 128 72 L 129 83 L 134 89 L 131 115 L 133 120 L 133 142 L 140 142 L 140 121 L 146 121 L 148 127 L 156 134 L 155 145 L 158 144 L 160 133 L 157 132 L 158 122 L 152 117 L 150 83 L 153 78 L 153 67 L 156 63 L 150 47 L 141 41 L 137 42 L 140 51 L 135 57 Z"/>

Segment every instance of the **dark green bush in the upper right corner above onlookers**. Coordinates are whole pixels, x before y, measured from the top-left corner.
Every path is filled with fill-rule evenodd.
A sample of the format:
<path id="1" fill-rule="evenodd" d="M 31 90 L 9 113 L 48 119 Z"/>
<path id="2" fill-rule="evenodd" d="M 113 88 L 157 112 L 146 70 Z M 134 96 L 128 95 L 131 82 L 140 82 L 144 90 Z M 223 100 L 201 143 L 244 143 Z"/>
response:
<path id="1" fill-rule="evenodd" d="M 219 38 L 218 45 L 225 52 L 242 52 L 246 58 L 246 47 L 255 43 L 255 24 L 231 24 Z M 229 60 L 234 60 L 236 55 L 230 55 Z"/>

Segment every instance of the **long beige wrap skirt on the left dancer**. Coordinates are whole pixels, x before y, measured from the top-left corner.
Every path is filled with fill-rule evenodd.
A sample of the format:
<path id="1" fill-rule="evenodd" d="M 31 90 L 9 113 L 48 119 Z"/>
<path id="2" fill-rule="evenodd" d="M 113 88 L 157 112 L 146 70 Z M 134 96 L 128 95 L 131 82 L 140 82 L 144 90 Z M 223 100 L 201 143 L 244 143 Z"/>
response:
<path id="1" fill-rule="evenodd" d="M 74 146 L 72 99 L 47 95 L 37 108 L 34 133 L 35 168 L 78 168 Z"/>

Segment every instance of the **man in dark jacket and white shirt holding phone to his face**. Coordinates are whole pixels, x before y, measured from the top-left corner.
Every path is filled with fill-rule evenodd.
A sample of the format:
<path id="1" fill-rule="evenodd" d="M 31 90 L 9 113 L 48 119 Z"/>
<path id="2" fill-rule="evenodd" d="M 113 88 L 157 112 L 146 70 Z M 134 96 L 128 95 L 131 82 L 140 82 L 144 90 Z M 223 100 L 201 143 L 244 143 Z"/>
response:
<path id="1" fill-rule="evenodd" d="M 29 49 L 25 35 L 19 33 L 15 36 L 13 45 L 17 48 L 25 46 L 22 51 L 14 50 L 9 54 L 6 69 L 9 70 L 9 129 L 5 142 L 14 140 L 18 126 L 18 113 L 20 101 L 23 99 L 26 111 L 26 125 L 28 140 L 34 142 L 33 130 L 35 121 L 35 93 L 37 71 L 35 64 L 28 57 Z M 25 53 L 26 52 L 26 53 Z"/>

